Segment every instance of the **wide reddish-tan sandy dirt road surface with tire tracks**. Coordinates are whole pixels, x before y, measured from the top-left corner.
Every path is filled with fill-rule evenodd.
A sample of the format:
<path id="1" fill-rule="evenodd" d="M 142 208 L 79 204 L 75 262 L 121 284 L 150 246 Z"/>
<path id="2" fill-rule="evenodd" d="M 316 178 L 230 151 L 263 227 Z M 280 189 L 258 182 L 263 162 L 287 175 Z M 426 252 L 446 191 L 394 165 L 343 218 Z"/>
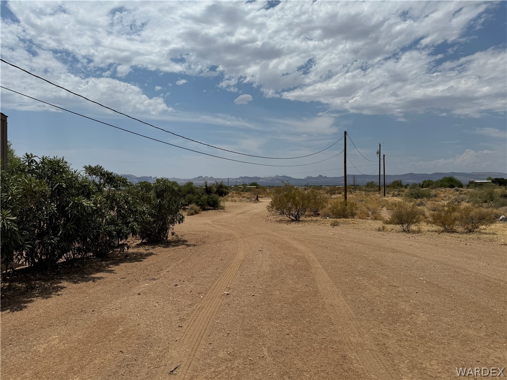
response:
<path id="1" fill-rule="evenodd" d="M 450 379 L 507 367 L 507 246 L 269 215 L 186 217 L 46 285 L 4 285 L 4 379 Z M 376 223 L 375 225 L 372 223 Z"/>

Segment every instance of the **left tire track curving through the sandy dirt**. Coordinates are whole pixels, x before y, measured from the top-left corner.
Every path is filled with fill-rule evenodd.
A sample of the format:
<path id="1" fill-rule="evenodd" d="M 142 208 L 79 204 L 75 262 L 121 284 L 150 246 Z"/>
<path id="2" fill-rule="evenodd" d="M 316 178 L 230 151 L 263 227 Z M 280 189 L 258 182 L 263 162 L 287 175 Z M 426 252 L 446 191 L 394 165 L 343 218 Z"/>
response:
<path id="1" fill-rule="evenodd" d="M 212 224 L 208 221 L 209 224 Z M 227 231 L 227 229 L 224 229 Z M 223 232 L 223 231 L 222 231 Z M 201 341 L 210 326 L 213 318 L 216 317 L 220 305 L 223 300 L 223 293 L 225 292 L 228 284 L 236 276 L 239 267 L 248 252 L 248 243 L 239 233 L 229 230 L 234 235 L 234 240 L 238 242 L 238 251 L 229 268 L 219 277 L 218 280 L 209 288 L 204 295 L 202 302 L 197 310 L 192 314 L 186 327 L 183 331 L 182 338 L 179 340 L 179 354 L 176 358 L 171 358 L 166 361 L 167 363 L 175 363 L 178 366 L 175 373 L 180 375 L 180 378 L 186 378 L 187 371 L 192 365 Z M 171 368 L 172 369 L 172 368 Z M 168 374 L 170 369 L 162 368 L 159 375 Z"/>

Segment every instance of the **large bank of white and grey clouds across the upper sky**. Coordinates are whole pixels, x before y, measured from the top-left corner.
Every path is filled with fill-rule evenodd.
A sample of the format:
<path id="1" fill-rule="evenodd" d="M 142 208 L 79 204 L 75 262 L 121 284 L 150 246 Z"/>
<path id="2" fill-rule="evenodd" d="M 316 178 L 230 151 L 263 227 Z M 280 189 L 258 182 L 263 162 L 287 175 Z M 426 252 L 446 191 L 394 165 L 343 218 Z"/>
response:
<path id="1" fill-rule="evenodd" d="M 494 2 L 282 2 L 269 10 L 238 2 L 7 6 L 20 23 L 2 20 L 2 54 L 20 64 L 30 60 L 30 43 L 40 54 L 72 57 L 69 72 L 222 75 L 220 87 L 229 91 L 248 84 L 266 97 L 367 115 L 479 117 L 507 106 L 504 47 L 460 58 L 452 55 L 455 46 L 436 54 L 441 44 L 466 43 L 465 31 L 480 27 Z"/>

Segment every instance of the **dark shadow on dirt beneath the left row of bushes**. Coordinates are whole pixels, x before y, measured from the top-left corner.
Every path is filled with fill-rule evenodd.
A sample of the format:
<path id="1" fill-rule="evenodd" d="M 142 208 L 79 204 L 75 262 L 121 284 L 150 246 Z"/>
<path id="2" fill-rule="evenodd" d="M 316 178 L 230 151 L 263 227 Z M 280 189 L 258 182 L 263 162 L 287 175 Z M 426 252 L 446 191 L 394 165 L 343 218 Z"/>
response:
<path id="1" fill-rule="evenodd" d="M 138 240 L 137 240 L 138 241 Z M 28 307 L 39 298 L 59 296 L 65 289 L 64 282 L 79 284 L 97 282 L 103 278 L 100 274 L 114 273 L 114 267 L 123 263 L 141 262 L 155 254 L 153 249 L 192 246 L 184 239 L 173 239 L 162 244 L 136 243 L 130 241 L 130 249 L 125 252 L 113 252 L 103 259 L 60 262 L 49 272 L 38 272 L 33 268 L 22 267 L 12 274 L 3 275 L 0 311 L 17 312 Z"/>

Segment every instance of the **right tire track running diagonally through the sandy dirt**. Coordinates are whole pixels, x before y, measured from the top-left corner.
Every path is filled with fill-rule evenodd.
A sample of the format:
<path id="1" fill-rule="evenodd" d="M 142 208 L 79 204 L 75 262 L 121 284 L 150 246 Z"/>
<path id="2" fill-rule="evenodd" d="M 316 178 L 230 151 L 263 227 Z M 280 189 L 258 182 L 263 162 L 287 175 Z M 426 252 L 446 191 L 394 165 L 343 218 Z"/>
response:
<path id="1" fill-rule="evenodd" d="M 364 334 L 360 333 L 360 326 L 356 322 L 354 313 L 347 305 L 347 302 L 340 291 L 336 288 L 329 275 L 317 260 L 317 258 L 303 245 L 297 245 L 294 240 L 289 240 L 285 236 L 273 233 L 273 236 L 283 240 L 287 246 L 291 246 L 294 251 L 299 251 L 310 264 L 311 271 L 314 274 L 319 292 L 323 299 L 328 301 L 327 307 L 332 314 L 336 316 L 333 322 L 336 323 L 343 333 L 343 337 L 350 350 L 355 354 L 357 362 L 365 374 L 365 378 L 390 380 L 393 377 L 389 373 L 387 366 L 382 358 L 376 353 L 375 347 Z"/>

